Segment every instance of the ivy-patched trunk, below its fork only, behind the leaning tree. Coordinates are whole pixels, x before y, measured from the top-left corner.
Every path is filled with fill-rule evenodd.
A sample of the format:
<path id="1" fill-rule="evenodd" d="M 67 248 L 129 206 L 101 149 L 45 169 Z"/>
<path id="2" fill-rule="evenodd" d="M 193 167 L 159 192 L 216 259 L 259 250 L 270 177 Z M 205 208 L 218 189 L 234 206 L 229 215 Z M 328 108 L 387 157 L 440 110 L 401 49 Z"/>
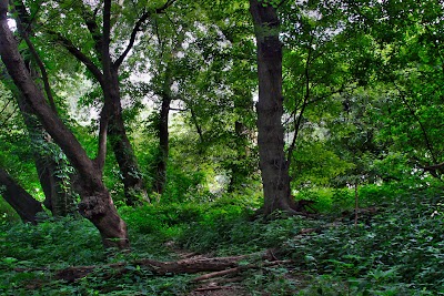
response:
<path id="1" fill-rule="evenodd" d="M 123 177 L 125 204 L 132 206 L 141 202 L 150 202 L 150 200 L 134 151 L 127 135 L 122 116 L 118 71 L 118 69 L 112 69 L 112 81 L 108 83 L 107 88 L 109 90 L 104 91 L 108 94 L 104 100 L 110 106 L 108 135 Z"/>

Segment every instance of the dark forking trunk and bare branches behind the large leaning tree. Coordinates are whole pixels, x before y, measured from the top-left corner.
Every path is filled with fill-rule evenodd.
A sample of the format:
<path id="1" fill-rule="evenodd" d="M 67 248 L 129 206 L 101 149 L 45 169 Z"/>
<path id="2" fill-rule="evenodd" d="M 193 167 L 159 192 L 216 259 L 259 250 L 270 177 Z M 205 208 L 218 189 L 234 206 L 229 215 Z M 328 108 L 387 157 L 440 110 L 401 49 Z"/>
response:
<path id="1" fill-rule="evenodd" d="M 112 61 L 110 53 L 111 2 L 111 0 L 103 1 L 103 30 L 100 30 L 101 28 L 98 24 L 99 18 L 95 12 L 91 11 L 82 1 L 74 3 L 81 12 L 79 17 L 83 18 L 84 25 L 91 33 L 91 38 L 94 42 L 94 53 L 101 63 L 100 67 L 89 58 L 89 54 L 83 53 L 81 49 L 78 49 L 71 40 L 61 33 L 52 31 L 51 29 L 47 29 L 47 32 L 50 33 L 52 38 L 57 39 L 58 43 L 62 44 L 78 61 L 82 62 L 100 83 L 104 96 L 103 101 L 107 105 L 104 110 L 107 110 L 109 121 L 108 133 L 110 135 L 111 147 L 123 178 L 125 203 L 127 205 L 134 205 L 143 200 L 149 202 L 149 198 L 142 173 L 139 169 L 132 145 L 128 139 L 122 118 L 119 68 L 131 50 L 137 33 L 141 31 L 140 27 L 148 19 L 150 13 L 143 13 L 131 33 L 127 50 L 118 60 Z"/>

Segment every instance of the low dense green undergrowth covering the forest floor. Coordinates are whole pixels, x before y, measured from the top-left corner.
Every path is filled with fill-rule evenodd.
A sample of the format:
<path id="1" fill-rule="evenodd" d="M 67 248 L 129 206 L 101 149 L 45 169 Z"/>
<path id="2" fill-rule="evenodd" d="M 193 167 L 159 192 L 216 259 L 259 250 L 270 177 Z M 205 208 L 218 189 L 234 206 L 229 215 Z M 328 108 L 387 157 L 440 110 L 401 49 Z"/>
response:
<path id="1" fill-rule="evenodd" d="M 443 188 L 365 186 L 355 225 L 352 191 L 301 194 L 317 201 L 316 216 L 254 217 L 259 202 L 245 196 L 212 203 L 121 208 L 131 253 L 103 252 L 85 220 L 43 221 L 38 226 L 2 220 L 1 295 L 186 295 L 192 275 L 153 276 L 127 266 L 109 276 L 105 263 L 135 258 L 174 261 L 181 252 L 211 256 L 273 248 L 294 263 L 243 273 L 246 295 L 444 295 Z M 315 232 L 303 234 L 303 229 Z M 75 283 L 56 280 L 68 266 L 103 266 Z"/>

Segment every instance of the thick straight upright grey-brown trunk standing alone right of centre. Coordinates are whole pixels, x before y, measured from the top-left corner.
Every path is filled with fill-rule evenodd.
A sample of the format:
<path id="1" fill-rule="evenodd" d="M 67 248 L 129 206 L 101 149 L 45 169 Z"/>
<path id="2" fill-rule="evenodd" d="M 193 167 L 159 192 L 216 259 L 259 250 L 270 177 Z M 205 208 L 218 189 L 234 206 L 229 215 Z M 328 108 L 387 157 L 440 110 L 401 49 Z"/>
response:
<path id="1" fill-rule="evenodd" d="M 282 96 L 282 44 L 275 9 L 250 0 L 258 43 L 259 101 L 258 145 L 264 191 L 264 214 L 275 210 L 294 213 L 290 195 L 289 167 L 284 153 Z"/>

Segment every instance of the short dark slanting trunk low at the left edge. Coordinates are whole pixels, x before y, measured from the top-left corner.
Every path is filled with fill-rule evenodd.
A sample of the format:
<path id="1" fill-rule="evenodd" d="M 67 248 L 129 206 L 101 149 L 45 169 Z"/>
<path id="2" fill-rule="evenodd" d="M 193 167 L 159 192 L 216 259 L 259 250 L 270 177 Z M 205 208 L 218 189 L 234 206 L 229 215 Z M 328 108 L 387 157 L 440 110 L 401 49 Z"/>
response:
<path id="1" fill-rule="evenodd" d="M 43 212 L 41 204 L 2 169 L 0 169 L 0 195 L 16 210 L 23 222 L 37 224 L 37 214 Z"/>

